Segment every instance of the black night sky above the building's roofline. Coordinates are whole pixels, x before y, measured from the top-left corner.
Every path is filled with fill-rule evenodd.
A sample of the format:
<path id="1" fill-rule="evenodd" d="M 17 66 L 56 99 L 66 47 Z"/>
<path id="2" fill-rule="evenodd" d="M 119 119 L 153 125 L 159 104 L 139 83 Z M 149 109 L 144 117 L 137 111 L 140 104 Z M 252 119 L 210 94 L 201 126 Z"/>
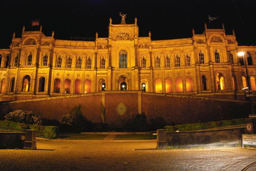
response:
<path id="1" fill-rule="evenodd" d="M 235 29 L 239 45 L 256 45 L 256 0 L 4 0 L 1 1 L 0 48 L 8 48 L 12 33 L 21 36 L 23 25 L 40 19 L 43 32 L 55 39 L 70 37 L 108 37 L 109 18 L 120 23 L 119 12 L 127 14 L 126 23 L 138 18 L 140 36 L 152 33 L 152 40 L 191 37 L 210 28 L 226 34 Z M 209 23 L 208 15 L 219 19 Z"/>

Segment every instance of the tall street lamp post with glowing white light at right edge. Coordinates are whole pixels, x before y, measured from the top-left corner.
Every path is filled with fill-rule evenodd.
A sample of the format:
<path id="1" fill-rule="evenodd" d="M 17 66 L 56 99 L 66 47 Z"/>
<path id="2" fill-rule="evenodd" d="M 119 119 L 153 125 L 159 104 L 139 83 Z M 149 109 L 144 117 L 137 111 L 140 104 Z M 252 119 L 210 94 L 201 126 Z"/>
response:
<path id="1" fill-rule="evenodd" d="M 250 76 L 248 73 L 248 69 L 247 69 L 247 64 L 246 64 L 246 60 L 245 60 L 245 53 L 244 51 L 240 51 L 237 53 L 238 56 L 242 56 L 243 60 L 244 60 L 244 65 L 245 65 L 245 73 L 246 73 L 246 82 L 248 85 L 248 94 L 246 94 L 246 97 L 249 97 L 250 100 L 250 106 L 251 106 L 251 114 L 249 114 L 249 118 L 252 118 L 253 121 L 253 128 L 254 128 L 254 133 L 256 134 L 256 115 L 254 113 L 254 104 L 253 104 L 253 99 L 252 99 L 252 86 L 251 86 L 251 81 L 250 81 Z"/>

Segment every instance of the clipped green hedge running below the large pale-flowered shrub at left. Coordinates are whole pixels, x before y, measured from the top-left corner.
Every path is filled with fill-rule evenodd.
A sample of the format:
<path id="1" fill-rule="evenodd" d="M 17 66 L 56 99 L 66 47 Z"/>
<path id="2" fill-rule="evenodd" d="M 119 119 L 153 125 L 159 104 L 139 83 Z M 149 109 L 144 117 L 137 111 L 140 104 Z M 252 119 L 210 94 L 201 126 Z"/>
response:
<path id="1" fill-rule="evenodd" d="M 59 136 L 59 128 L 54 126 L 27 125 L 18 122 L 0 121 L 0 129 L 9 131 L 24 131 L 24 129 L 34 129 L 37 137 L 55 139 Z"/>

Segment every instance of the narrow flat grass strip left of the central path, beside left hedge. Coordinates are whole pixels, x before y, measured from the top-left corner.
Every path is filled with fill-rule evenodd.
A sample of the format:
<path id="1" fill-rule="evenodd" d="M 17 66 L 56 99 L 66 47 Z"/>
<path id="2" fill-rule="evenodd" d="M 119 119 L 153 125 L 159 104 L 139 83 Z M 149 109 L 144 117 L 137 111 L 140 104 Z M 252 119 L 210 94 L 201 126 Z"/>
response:
<path id="1" fill-rule="evenodd" d="M 106 138 L 107 135 L 100 135 L 100 134 L 60 134 L 59 139 L 65 140 L 103 140 Z"/>

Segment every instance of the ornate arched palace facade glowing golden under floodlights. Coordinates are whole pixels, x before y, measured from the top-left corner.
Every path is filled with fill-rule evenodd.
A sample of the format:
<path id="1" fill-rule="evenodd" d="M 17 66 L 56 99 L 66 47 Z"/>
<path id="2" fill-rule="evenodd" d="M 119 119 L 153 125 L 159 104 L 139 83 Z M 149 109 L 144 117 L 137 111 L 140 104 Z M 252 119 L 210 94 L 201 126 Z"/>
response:
<path id="1" fill-rule="evenodd" d="M 142 90 L 234 98 L 246 87 L 244 61 L 256 91 L 256 46 L 238 46 L 235 33 L 209 29 L 192 38 L 152 41 L 134 24 L 112 24 L 95 41 L 55 40 L 54 32 L 13 35 L 0 49 L 0 98 L 15 100 L 104 90 Z"/>

